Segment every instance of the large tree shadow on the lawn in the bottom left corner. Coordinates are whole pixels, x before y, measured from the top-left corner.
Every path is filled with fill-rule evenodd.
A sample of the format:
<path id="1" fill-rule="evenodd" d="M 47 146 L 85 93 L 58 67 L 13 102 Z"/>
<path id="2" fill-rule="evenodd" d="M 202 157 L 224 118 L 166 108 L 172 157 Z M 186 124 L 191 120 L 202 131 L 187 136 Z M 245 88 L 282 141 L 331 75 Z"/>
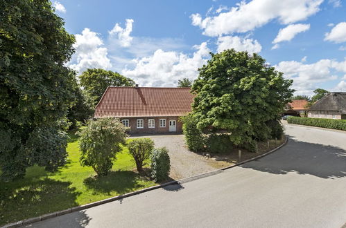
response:
<path id="1" fill-rule="evenodd" d="M 0 225 L 76 207 L 80 194 L 71 182 L 45 178 L 34 182 L 0 182 Z"/>

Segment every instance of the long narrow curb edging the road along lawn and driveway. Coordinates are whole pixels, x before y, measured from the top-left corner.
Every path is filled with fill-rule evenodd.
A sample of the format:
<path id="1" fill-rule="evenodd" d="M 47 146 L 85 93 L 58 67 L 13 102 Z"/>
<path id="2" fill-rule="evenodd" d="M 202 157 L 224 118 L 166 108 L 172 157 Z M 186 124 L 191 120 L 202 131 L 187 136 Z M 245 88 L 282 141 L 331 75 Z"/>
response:
<path id="1" fill-rule="evenodd" d="M 107 198 L 105 200 L 99 200 L 99 201 L 96 201 L 96 202 L 89 203 L 87 205 L 80 205 L 80 206 L 72 207 L 72 208 L 69 208 L 69 209 L 62 210 L 62 211 L 56 211 L 56 212 L 53 212 L 53 213 L 46 213 L 46 214 L 44 214 L 42 216 L 38 216 L 38 217 L 35 217 L 35 218 L 28 218 L 26 220 L 21 220 L 21 221 L 18 221 L 18 222 L 12 222 L 10 224 L 4 225 L 1 228 L 12 228 L 12 227 L 21 227 L 21 226 L 24 226 L 24 225 L 30 225 L 30 224 L 32 224 L 34 222 L 46 220 L 46 219 L 49 219 L 49 218 L 54 218 L 54 217 L 57 217 L 57 216 L 62 216 L 64 214 L 72 213 L 72 212 L 75 212 L 75 211 L 81 211 L 81 210 L 89 209 L 91 207 L 96 207 L 98 205 L 103 205 L 103 204 L 105 204 L 107 202 L 113 202 L 113 201 L 120 200 L 120 199 L 123 199 L 123 198 L 128 198 L 130 196 L 135 196 L 135 195 L 138 195 L 140 193 L 144 193 L 146 191 L 152 191 L 152 190 L 155 190 L 155 189 L 160 189 L 162 187 L 166 187 L 167 185 L 171 185 L 171 184 L 184 184 L 184 183 L 187 183 L 187 182 L 191 182 L 193 180 L 198 180 L 198 179 L 201 179 L 201 178 L 207 178 L 207 177 L 209 177 L 211 175 L 216 175 L 218 173 L 222 173 L 223 171 L 225 171 L 227 169 L 231 169 L 233 167 L 238 167 L 241 164 L 245 164 L 247 162 L 251 162 L 251 161 L 254 161 L 254 160 L 258 160 L 259 158 L 263 158 L 264 156 L 266 156 L 266 155 L 268 155 L 270 153 L 273 153 L 274 151 L 277 151 L 278 149 L 282 148 L 282 146 L 286 145 L 287 142 L 288 142 L 288 137 L 286 136 L 285 142 L 283 144 L 281 144 L 280 146 L 277 146 L 275 149 L 273 149 L 271 151 L 268 151 L 267 153 L 263 153 L 261 155 L 258 155 L 258 156 L 254 157 L 254 158 L 245 160 L 243 162 L 239 162 L 237 164 L 232 164 L 229 167 L 224 167 L 222 169 L 217 169 L 215 171 L 210 171 L 210 172 L 207 172 L 207 173 L 202 173 L 202 174 L 199 174 L 199 175 L 194 175 L 194 176 L 189 177 L 189 178 L 184 178 L 184 179 L 180 179 L 180 180 L 172 180 L 172 181 L 166 182 L 164 184 L 158 184 L 158 185 L 155 185 L 155 186 L 152 186 L 152 187 L 148 187 L 146 189 L 141 189 L 141 190 L 138 190 L 138 191 L 132 191 L 130 193 L 126 193 L 126 194 L 123 194 L 123 195 L 120 195 L 120 196 L 114 196 L 114 197 L 111 197 L 111 198 Z"/>

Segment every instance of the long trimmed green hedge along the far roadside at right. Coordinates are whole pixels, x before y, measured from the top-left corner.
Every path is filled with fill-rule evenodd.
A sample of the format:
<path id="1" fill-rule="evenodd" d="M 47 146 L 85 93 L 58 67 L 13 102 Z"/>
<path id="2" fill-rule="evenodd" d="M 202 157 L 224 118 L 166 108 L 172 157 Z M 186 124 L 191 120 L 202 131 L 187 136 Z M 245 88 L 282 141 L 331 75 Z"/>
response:
<path id="1" fill-rule="evenodd" d="M 287 119 L 288 124 L 300 124 L 307 126 L 319 126 L 326 129 L 338 129 L 346 131 L 346 120 L 307 118 L 290 116 Z"/>

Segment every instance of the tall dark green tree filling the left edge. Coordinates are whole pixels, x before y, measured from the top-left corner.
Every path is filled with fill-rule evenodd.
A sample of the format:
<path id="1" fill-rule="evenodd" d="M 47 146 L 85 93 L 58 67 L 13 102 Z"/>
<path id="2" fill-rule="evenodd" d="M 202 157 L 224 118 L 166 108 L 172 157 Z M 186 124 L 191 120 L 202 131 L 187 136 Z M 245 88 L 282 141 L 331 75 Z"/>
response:
<path id="1" fill-rule="evenodd" d="M 32 164 L 50 171 L 64 164 L 75 80 L 65 64 L 74 41 L 51 1 L 0 1 L 2 178 L 22 177 Z"/>

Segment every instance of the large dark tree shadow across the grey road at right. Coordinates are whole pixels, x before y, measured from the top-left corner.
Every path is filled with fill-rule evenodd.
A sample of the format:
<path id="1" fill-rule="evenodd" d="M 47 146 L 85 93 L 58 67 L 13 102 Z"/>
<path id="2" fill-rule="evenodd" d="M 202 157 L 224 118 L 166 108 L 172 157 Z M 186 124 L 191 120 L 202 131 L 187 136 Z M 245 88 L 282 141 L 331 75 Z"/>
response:
<path id="1" fill-rule="evenodd" d="M 289 137 L 288 144 L 282 149 L 241 167 L 274 174 L 296 172 L 319 178 L 344 178 L 346 151 L 336 146 L 300 142 Z"/>

